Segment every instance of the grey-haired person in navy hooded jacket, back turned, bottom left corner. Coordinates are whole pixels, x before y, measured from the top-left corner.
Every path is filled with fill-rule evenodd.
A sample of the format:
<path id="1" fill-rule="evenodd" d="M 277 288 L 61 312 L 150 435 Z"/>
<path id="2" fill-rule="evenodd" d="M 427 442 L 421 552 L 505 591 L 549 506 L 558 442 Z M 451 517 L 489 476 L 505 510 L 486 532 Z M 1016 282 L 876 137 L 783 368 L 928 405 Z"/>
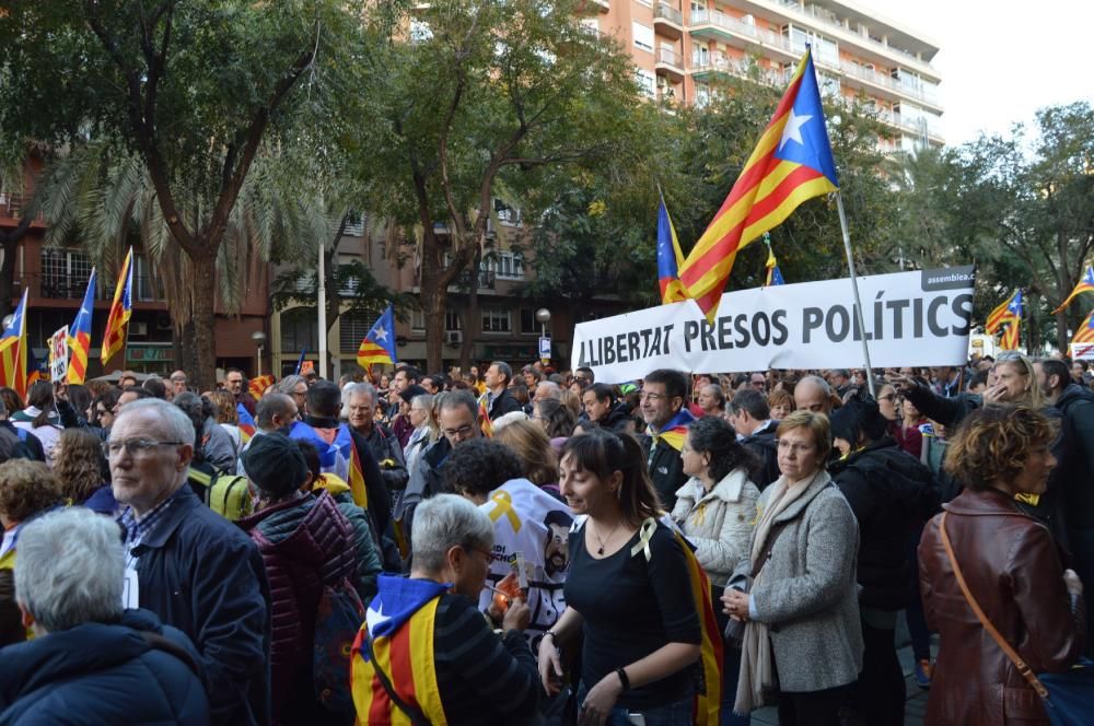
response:
<path id="1" fill-rule="evenodd" d="M 0 723 L 209 723 L 197 651 L 147 610 L 123 610 L 117 526 L 84 507 L 19 538 L 15 586 L 36 637 L 0 651 Z"/>

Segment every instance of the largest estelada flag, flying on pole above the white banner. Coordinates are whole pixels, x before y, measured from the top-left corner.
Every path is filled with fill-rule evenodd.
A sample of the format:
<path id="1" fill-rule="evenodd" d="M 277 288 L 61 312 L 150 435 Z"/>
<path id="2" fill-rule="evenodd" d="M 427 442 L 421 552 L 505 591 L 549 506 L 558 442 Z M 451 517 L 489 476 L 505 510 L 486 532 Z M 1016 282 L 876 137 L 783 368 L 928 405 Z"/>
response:
<path id="1" fill-rule="evenodd" d="M 737 253 L 839 179 L 813 56 L 805 51 L 730 196 L 680 268 L 688 295 L 713 320 Z"/>

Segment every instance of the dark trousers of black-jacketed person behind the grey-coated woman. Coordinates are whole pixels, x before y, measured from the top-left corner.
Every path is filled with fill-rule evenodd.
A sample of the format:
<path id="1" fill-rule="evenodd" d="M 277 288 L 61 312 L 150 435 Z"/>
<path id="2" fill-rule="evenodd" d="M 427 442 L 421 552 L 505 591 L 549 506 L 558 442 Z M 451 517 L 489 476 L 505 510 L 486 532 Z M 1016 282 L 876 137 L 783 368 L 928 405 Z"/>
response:
<path id="1" fill-rule="evenodd" d="M 851 703 L 862 724 L 904 725 L 904 670 L 896 657 L 895 631 L 862 620 L 862 672 L 851 688 Z"/>

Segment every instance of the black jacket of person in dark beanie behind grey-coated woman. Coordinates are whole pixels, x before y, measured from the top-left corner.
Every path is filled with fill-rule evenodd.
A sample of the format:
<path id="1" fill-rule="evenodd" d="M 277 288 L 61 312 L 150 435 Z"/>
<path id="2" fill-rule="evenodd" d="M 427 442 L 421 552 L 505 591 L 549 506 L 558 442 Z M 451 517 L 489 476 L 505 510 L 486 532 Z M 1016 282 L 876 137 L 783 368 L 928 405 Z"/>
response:
<path id="1" fill-rule="evenodd" d="M 913 577 L 908 532 L 939 510 L 931 470 L 886 436 L 828 468 L 859 520 L 859 600 L 899 610 Z"/>

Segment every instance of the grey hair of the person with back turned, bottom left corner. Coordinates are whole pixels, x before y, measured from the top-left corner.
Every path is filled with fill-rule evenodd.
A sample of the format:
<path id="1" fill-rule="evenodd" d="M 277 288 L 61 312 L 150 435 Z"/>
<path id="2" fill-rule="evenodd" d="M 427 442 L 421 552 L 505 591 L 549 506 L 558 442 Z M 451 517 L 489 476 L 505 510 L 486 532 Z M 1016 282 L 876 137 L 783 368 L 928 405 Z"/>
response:
<path id="1" fill-rule="evenodd" d="M 117 524 L 82 506 L 66 507 L 21 528 L 15 598 L 50 633 L 118 622 L 125 570 Z"/>

